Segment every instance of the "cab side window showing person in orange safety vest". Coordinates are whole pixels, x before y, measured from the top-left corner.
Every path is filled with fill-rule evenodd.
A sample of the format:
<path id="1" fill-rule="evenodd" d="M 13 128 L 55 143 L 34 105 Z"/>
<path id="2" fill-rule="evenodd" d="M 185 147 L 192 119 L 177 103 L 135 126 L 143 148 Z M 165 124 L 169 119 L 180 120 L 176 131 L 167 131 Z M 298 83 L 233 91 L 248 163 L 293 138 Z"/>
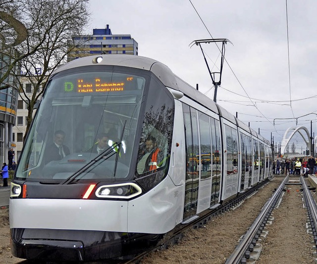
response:
<path id="1" fill-rule="evenodd" d="M 147 96 L 136 164 L 136 176 L 144 179 L 146 189 L 154 187 L 166 176 L 173 129 L 174 101 L 167 89 L 152 78 Z M 162 172 L 157 173 L 156 172 Z M 146 185 L 146 186 L 145 186 Z"/>

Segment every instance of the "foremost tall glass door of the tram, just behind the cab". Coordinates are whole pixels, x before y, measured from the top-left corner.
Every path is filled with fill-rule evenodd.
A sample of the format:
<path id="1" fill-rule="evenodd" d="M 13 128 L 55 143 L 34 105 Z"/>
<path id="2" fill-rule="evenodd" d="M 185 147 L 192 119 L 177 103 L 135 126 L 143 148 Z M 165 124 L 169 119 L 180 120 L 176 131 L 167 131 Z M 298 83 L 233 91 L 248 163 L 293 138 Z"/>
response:
<path id="1" fill-rule="evenodd" d="M 196 216 L 199 190 L 199 155 L 197 111 L 183 103 L 185 144 L 186 144 L 186 181 L 183 220 Z"/>

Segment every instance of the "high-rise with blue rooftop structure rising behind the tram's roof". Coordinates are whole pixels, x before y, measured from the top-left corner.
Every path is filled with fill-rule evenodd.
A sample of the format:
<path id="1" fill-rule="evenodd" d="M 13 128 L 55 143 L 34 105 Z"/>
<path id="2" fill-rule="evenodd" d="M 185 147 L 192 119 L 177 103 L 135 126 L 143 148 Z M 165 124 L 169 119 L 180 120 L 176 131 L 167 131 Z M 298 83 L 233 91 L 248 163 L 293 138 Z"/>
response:
<path id="1" fill-rule="evenodd" d="M 131 35 L 113 35 L 109 25 L 94 29 L 93 35 L 74 36 L 72 40 L 75 48 L 69 53 L 68 61 L 96 54 L 138 55 L 138 43 Z"/>

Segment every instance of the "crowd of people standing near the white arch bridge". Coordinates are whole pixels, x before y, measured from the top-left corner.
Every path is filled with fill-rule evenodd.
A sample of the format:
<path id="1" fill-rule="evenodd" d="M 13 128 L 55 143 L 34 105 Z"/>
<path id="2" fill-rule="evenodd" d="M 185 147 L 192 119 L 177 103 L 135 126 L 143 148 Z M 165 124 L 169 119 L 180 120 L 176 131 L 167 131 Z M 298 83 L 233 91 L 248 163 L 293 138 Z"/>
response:
<path id="1" fill-rule="evenodd" d="M 317 174 L 317 158 L 293 158 L 273 161 L 273 174 L 277 175 L 316 175 Z"/>

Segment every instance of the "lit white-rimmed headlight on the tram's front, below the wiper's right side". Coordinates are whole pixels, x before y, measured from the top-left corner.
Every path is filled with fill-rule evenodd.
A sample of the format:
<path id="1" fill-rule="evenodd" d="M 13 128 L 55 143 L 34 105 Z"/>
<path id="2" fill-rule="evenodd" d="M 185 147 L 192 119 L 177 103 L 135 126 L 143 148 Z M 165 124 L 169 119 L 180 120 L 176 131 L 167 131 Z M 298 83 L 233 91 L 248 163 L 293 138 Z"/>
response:
<path id="1" fill-rule="evenodd" d="M 121 198 L 130 199 L 142 193 L 139 185 L 128 182 L 100 186 L 96 190 L 96 196 L 101 198 Z"/>

